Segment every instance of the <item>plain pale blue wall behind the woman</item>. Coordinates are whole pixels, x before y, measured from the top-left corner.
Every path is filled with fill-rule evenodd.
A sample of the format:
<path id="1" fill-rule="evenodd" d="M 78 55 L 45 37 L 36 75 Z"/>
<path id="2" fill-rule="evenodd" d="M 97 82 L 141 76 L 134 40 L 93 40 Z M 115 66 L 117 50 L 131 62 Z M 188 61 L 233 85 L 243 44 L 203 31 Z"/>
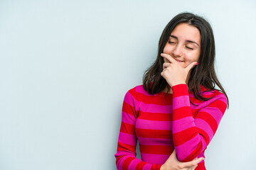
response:
<path id="1" fill-rule="evenodd" d="M 256 1 L 0 1 L 0 169 L 115 169 L 124 94 L 177 13 L 210 21 L 230 99 L 208 169 L 255 169 Z"/>

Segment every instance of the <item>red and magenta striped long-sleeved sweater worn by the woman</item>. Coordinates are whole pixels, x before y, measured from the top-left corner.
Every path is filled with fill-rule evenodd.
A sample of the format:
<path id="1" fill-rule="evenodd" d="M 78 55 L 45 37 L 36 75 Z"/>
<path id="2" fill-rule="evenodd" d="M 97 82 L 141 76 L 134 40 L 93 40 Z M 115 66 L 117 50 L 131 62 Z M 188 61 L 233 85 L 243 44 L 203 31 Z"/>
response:
<path id="1" fill-rule="evenodd" d="M 159 170 L 174 149 L 181 162 L 205 157 L 204 151 L 227 108 L 227 98 L 203 86 L 202 95 L 210 97 L 208 101 L 197 100 L 186 84 L 173 86 L 172 90 L 173 94 L 151 95 L 141 85 L 124 96 L 114 155 L 118 170 Z M 137 140 L 142 159 L 136 158 Z M 204 162 L 196 168 L 201 169 L 206 169 Z"/>

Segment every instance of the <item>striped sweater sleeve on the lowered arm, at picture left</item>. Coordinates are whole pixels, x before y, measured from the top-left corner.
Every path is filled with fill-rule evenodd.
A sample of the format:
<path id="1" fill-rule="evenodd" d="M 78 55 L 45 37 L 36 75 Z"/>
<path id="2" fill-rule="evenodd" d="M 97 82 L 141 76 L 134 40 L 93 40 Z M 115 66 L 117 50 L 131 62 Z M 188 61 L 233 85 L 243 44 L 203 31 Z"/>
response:
<path id="1" fill-rule="evenodd" d="M 122 106 L 122 123 L 119 132 L 116 164 L 118 170 L 159 170 L 161 165 L 148 164 L 136 158 L 137 136 L 135 133 L 135 123 L 138 114 L 138 103 L 134 99 L 135 89 L 131 89 L 124 96 Z"/>

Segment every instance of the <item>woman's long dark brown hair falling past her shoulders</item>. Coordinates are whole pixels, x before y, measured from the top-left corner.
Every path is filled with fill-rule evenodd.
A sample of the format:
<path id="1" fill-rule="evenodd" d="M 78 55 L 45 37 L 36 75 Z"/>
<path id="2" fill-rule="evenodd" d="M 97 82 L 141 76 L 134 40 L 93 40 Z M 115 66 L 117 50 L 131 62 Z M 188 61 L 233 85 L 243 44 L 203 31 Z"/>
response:
<path id="1" fill-rule="evenodd" d="M 166 86 L 168 87 L 168 90 L 171 88 L 166 79 L 161 77 L 164 59 L 160 54 L 163 52 L 171 32 L 180 23 L 187 23 L 194 26 L 198 28 L 199 32 L 201 33 L 201 53 L 198 59 L 199 64 L 191 69 L 191 76 L 188 80 L 188 90 L 192 91 L 195 98 L 198 100 L 208 101 L 210 98 L 205 98 L 201 95 L 201 85 L 203 85 L 207 91 L 218 90 L 225 94 L 226 98 L 228 99 L 228 96 L 215 73 L 215 41 L 213 30 L 210 24 L 204 18 L 193 13 L 179 13 L 167 24 L 166 28 L 164 28 L 164 31 L 159 39 L 159 48 L 156 60 L 151 67 L 144 72 L 144 90 L 148 91 L 149 94 L 158 94 L 159 92 L 164 91 Z M 220 90 L 215 89 L 216 85 Z"/>

